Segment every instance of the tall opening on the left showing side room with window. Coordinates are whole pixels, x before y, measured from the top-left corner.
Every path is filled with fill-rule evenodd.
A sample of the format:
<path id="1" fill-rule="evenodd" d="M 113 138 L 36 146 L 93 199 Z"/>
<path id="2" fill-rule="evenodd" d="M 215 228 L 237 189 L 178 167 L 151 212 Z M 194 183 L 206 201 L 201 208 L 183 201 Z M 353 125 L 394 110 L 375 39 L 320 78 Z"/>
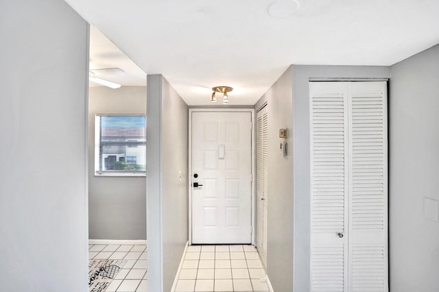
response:
<path id="1" fill-rule="evenodd" d="M 88 291 L 146 291 L 146 75 L 93 26 L 89 70 Z"/>

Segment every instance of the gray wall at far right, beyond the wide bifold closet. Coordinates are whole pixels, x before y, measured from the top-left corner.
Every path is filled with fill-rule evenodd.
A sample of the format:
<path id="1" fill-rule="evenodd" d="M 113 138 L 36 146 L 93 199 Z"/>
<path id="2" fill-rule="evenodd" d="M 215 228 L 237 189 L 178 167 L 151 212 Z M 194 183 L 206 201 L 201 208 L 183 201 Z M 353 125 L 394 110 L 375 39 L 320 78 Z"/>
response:
<path id="1" fill-rule="evenodd" d="M 391 70 L 390 288 L 438 291 L 439 222 L 423 201 L 439 201 L 439 45 Z"/>

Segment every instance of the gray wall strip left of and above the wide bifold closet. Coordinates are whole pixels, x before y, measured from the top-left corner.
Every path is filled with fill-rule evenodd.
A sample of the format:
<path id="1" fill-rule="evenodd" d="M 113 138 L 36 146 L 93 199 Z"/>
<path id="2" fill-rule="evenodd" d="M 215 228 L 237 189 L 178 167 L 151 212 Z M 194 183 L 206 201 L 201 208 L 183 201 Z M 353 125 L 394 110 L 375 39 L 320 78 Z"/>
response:
<path id="1" fill-rule="evenodd" d="M 309 78 L 388 78 L 387 66 L 292 66 L 294 289 L 309 291 Z"/>

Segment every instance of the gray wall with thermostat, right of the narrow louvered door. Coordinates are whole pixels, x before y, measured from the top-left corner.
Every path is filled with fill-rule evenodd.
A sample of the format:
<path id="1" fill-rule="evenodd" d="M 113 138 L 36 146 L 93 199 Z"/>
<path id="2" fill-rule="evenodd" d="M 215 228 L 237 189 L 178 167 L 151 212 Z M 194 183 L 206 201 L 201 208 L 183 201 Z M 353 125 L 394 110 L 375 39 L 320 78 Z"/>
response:
<path id="1" fill-rule="evenodd" d="M 267 274 L 274 291 L 293 290 L 293 99 L 290 66 L 259 99 L 255 108 L 268 102 L 268 243 Z M 279 129 L 289 130 L 279 138 Z M 282 156 L 279 143 L 287 142 Z"/>

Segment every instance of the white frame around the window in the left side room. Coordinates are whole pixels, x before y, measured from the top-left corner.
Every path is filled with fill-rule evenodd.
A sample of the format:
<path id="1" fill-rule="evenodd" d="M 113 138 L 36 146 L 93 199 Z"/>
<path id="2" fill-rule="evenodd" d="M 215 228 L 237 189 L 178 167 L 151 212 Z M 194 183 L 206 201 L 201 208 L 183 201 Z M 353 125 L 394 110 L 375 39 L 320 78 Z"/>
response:
<path id="1" fill-rule="evenodd" d="M 99 123 L 100 117 L 144 117 L 145 118 L 145 142 L 143 141 L 127 141 L 127 145 L 145 145 L 146 148 L 146 114 L 95 114 L 95 169 L 93 171 L 95 177 L 145 177 L 146 176 L 146 152 L 145 152 L 145 169 L 144 170 L 100 170 L 99 165 L 99 151 L 105 146 L 111 146 L 112 144 L 120 145 L 120 143 L 106 142 L 101 143 L 101 125 Z M 117 156 L 117 154 L 114 154 Z M 119 158 L 116 158 L 119 161 Z M 126 159 L 126 158 L 125 158 Z"/>

